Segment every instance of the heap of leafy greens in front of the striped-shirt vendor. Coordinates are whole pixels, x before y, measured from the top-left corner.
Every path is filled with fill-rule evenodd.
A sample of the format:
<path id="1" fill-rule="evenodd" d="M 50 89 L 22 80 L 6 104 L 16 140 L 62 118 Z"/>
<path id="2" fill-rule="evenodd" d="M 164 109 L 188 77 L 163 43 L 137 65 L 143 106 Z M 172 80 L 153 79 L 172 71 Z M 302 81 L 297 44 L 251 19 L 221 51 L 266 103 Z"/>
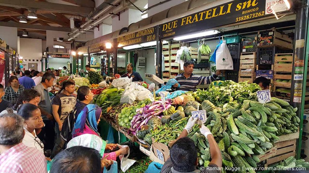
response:
<path id="1" fill-rule="evenodd" d="M 256 91 L 259 90 L 259 85 L 248 82 L 214 81 L 207 90 L 198 89 L 197 96 L 200 100 L 209 100 L 222 107 L 225 103 L 243 103 L 243 100 L 256 99 Z"/>

